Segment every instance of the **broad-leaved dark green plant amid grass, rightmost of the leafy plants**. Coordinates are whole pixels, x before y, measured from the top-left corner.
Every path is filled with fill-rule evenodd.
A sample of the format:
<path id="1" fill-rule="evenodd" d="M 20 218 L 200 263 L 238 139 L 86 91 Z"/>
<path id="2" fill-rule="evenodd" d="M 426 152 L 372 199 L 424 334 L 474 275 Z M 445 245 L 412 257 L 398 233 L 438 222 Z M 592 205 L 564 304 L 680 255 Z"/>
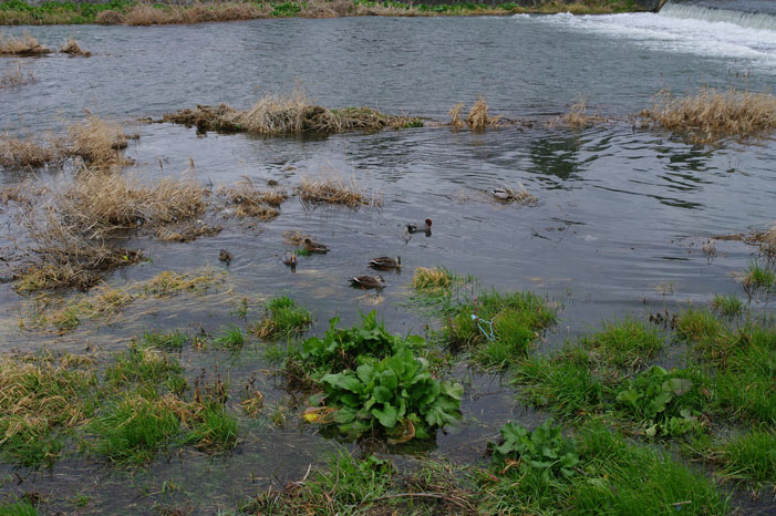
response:
<path id="1" fill-rule="evenodd" d="M 631 417 L 643 421 L 644 433 L 653 437 L 681 435 L 699 430 L 700 412 L 695 382 L 685 371 L 669 372 L 659 365 L 624 382 L 617 394 L 617 402 Z M 695 394 L 695 396 L 693 396 Z"/>

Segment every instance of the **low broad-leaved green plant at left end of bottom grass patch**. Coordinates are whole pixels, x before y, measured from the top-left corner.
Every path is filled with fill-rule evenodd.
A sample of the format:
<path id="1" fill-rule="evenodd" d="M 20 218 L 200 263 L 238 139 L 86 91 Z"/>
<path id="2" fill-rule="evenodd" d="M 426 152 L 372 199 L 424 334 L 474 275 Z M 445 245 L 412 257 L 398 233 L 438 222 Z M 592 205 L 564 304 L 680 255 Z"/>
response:
<path id="1" fill-rule="evenodd" d="M 552 419 L 528 431 L 515 423 L 501 426 L 501 443 L 493 447 L 493 462 L 501 471 L 537 469 L 546 477 L 570 478 L 579 464 L 575 442 L 563 437 Z"/>

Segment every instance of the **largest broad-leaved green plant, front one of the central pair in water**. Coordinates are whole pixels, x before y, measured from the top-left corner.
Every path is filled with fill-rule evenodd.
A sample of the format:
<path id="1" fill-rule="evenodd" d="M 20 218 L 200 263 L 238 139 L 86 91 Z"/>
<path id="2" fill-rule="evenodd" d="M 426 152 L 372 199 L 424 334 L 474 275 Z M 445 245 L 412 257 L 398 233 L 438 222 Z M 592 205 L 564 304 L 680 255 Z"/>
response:
<path id="1" fill-rule="evenodd" d="M 320 423 L 335 424 L 351 438 L 368 432 L 390 442 L 430 438 L 432 431 L 461 417 L 464 388 L 434 380 L 424 360 L 404 348 L 377 360 L 362 358 L 355 372 L 346 370 L 321 379 L 323 399 L 317 411 Z M 315 404 L 315 403 L 313 403 Z"/>

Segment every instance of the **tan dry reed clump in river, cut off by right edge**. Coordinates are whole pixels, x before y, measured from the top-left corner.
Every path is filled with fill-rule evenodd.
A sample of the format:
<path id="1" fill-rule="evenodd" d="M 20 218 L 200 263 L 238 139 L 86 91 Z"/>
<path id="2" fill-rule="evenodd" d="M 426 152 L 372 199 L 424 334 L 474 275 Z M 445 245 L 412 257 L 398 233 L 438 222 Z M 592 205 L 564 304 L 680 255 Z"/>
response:
<path id="1" fill-rule="evenodd" d="M 776 96 L 704 87 L 699 93 L 675 97 L 664 91 L 641 116 L 669 131 L 687 133 L 696 143 L 725 136 L 747 138 L 776 130 Z"/>

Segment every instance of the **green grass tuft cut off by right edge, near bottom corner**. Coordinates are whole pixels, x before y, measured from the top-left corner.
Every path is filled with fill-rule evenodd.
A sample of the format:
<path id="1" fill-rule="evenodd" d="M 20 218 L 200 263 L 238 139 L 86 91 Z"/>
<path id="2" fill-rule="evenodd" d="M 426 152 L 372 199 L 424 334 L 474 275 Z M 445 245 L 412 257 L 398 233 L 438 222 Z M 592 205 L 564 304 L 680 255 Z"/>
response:
<path id="1" fill-rule="evenodd" d="M 723 474 L 730 478 L 773 483 L 776 478 L 776 432 L 754 430 L 722 446 Z"/>

